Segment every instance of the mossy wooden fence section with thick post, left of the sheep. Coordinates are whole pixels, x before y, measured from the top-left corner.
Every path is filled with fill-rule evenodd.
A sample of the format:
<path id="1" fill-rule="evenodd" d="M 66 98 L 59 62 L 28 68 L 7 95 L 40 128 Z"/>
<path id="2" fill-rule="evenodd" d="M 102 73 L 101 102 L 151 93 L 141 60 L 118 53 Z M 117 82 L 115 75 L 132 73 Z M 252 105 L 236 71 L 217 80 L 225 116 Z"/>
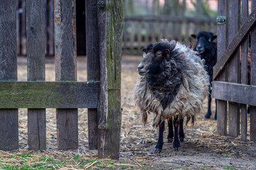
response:
<path id="1" fill-rule="evenodd" d="M 87 81 L 77 81 L 75 0 L 54 0 L 55 82 L 45 81 L 46 1 L 26 1 L 28 81 L 17 81 L 16 0 L 0 3 L 0 149 L 18 149 L 18 108 L 28 108 L 28 149 L 46 149 L 46 109 L 57 108 L 58 149 L 78 149 L 78 108 L 89 147 L 119 159 L 122 1 L 87 0 Z"/>

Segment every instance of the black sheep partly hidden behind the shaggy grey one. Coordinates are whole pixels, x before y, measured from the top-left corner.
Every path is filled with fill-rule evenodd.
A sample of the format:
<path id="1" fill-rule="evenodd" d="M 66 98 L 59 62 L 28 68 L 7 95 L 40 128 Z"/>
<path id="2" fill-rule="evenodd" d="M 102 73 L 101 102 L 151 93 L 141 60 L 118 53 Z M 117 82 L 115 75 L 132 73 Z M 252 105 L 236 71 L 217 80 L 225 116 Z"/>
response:
<path id="1" fill-rule="evenodd" d="M 211 91 L 212 91 L 212 81 L 213 81 L 213 67 L 217 62 L 217 44 L 213 42 L 217 35 L 207 31 L 200 31 L 197 35 L 192 34 L 191 37 L 197 40 L 196 47 L 194 48 L 197 51 L 203 60 L 205 60 L 206 70 L 209 75 L 210 86 L 208 94 L 208 111 L 205 115 L 205 118 L 210 118 L 210 103 L 211 103 Z M 214 120 L 217 120 L 217 102 L 215 100 L 215 116 Z"/>

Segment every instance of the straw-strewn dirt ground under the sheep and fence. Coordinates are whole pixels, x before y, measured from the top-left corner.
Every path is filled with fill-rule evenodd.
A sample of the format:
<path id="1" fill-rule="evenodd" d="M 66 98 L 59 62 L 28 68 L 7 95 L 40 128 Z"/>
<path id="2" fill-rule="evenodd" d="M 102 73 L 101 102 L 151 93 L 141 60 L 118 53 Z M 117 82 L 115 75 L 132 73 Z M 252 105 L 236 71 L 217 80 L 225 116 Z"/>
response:
<path id="1" fill-rule="evenodd" d="M 158 130 L 152 128 L 150 120 L 145 127 L 142 125 L 132 98 L 140 60 L 142 56 L 122 57 L 122 132 L 119 161 L 97 159 L 97 151 L 88 149 L 87 109 L 83 108 L 78 110 L 78 150 L 58 151 L 55 109 L 46 109 L 47 149 L 28 151 L 27 111 L 19 109 L 20 149 L 12 152 L 0 151 L 0 169 L 41 169 L 41 166 L 36 166 L 39 163 L 42 169 L 256 169 L 256 145 L 249 140 L 242 142 L 240 137 L 218 135 L 213 115 L 209 120 L 204 119 L 207 100 L 204 113 L 197 116 L 196 125 L 185 127 L 186 138 L 181 143 L 181 151 L 174 152 L 172 145 L 167 143 L 165 131 L 164 149 L 160 154 L 154 154 Z M 18 62 L 18 81 L 26 81 L 26 63 L 23 63 L 25 60 L 19 58 Z M 48 63 L 46 81 L 54 80 L 54 64 Z M 85 57 L 78 58 L 78 81 L 86 81 Z M 214 102 L 212 105 L 215 113 Z M 250 119 L 250 115 L 248 117 Z M 248 120 L 248 127 L 249 124 Z M 49 160 L 59 161 L 60 164 L 48 162 Z M 24 164 L 27 168 L 23 168 Z"/>

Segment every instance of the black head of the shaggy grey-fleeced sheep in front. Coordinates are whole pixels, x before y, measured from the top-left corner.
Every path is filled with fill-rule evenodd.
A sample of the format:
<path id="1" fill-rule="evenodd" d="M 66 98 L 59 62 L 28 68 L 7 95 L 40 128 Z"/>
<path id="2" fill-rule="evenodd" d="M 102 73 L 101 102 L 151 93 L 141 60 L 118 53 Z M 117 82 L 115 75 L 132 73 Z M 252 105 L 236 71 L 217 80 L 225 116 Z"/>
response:
<path id="1" fill-rule="evenodd" d="M 173 41 L 158 42 L 143 48 L 144 59 L 137 68 L 139 74 L 159 74 L 163 69 L 163 63 L 170 60 L 171 52 L 174 50 L 175 45 L 176 42 Z"/>

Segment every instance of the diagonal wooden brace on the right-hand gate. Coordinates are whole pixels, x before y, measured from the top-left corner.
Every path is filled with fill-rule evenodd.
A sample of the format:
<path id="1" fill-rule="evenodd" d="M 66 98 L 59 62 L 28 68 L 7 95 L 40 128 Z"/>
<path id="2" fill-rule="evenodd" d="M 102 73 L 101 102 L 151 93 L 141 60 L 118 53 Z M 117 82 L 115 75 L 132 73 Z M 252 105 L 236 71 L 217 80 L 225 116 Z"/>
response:
<path id="1" fill-rule="evenodd" d="M 218 62 L 213 67 L 213 79 L 216 80 L 221 72 L 225 69 L 225 66 L 235 55 L 236 50 L 242 44 L 243 40 L 247 38 L 247 35 L 250 33 L 252 28 L 256 24 L 256 8 L 253 9 L 250 16 L 247 17 L 245 23 L 242 24 L 242 27 L 238 30 L 238 33 L 235 34 L 235 38 L 230 42 L 228 48 L 223 52 L 223 56 L 218 60 Z"/>

